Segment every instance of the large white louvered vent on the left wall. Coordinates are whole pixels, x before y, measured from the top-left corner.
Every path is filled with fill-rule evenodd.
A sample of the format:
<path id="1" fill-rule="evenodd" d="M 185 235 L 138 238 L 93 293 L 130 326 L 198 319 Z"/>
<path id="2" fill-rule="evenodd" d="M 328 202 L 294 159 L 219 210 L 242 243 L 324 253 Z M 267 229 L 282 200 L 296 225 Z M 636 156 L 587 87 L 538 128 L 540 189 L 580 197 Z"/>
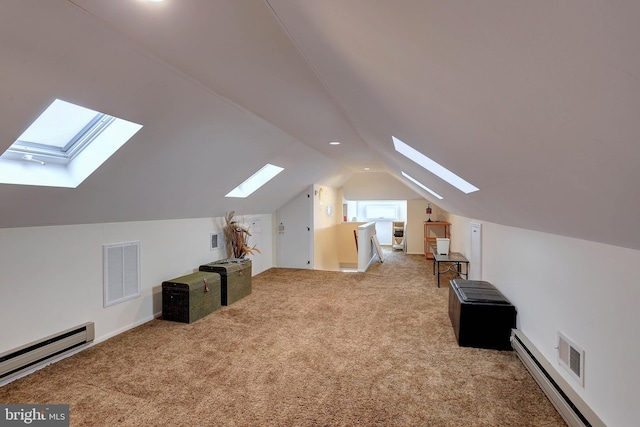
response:
<path id="1" fill-rule="evenodd" d="M 140 296 L 140 242 L 103 245 L 104 306 Z"/>

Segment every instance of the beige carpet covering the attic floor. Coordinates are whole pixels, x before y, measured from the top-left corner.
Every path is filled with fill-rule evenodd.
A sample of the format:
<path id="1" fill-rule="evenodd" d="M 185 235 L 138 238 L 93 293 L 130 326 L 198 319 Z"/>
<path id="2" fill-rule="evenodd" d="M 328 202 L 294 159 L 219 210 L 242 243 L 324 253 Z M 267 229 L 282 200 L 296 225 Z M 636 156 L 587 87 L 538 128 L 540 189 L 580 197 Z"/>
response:
<path id="1" fill-rule="evenodd" d="M 0 388 L 72 426 L 565 426 L 513 352 L 459 347 L 419 255 L 271 269 L 191 325 L 154 320 Z"/>

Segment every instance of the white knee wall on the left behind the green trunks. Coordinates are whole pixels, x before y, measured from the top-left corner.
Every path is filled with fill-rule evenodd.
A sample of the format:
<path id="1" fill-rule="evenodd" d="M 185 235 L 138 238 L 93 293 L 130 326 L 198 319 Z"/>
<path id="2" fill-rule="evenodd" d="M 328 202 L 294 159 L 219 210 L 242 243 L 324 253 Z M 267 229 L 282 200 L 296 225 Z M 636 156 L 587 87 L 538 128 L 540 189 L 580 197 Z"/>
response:
<path id="1" fill-rule="evenodd" d="M 273 266 L 272 215 L 251 244 L 253 274 Z M 162 312 L 162 282 L 226 258 L 210 250 L 222 218 L 0 229 L 0 353 L 93 321 L 102 341 Z M 140 241 L 141 296 L 103 307 L 102 245 Z"/>

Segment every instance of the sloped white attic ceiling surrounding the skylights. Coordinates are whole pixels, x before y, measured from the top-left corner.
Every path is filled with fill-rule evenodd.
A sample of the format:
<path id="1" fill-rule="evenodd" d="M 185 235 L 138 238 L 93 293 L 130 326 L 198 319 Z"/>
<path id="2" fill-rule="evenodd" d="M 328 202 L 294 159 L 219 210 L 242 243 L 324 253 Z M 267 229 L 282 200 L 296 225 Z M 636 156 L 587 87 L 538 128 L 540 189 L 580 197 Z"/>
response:
<path id="1" fill-rule="evenodd" d="M 2 9 L 0 149 L 56 97 L 144 128 L 76 189 L 0 185 L 0 226 L 269 213 L 369 167 L 431 199 L 405 171 L 455 214 L 640 249 L 634 0 Z M 391 135 L 480 191 L 395 153 Z M 285 172 L 223 197 L 266 162 Z"/>

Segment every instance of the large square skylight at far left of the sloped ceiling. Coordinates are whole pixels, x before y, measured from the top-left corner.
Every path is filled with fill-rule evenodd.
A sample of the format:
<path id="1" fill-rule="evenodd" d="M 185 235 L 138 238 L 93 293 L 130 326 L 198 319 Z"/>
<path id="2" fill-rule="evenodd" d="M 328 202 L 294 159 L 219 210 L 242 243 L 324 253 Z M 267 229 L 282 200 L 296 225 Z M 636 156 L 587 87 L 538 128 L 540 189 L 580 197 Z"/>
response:
<path id="1" fill-rule="evenodd" d="M 0 156 L 0 182 L 75 188 L 141 128 L 56 99 Z"/>

